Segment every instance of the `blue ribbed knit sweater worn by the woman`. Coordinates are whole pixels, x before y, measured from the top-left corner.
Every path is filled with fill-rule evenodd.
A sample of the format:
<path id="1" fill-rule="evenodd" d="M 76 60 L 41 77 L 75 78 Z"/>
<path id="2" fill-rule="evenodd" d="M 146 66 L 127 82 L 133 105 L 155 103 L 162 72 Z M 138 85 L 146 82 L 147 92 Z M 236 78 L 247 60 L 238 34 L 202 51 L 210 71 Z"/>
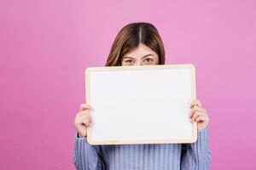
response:
<path id="1" fill-rule="evenodd" d="M 73 164 L 79 170 L 205 170 L 210 155 L 207 128 L 192 144 L 90 145 L 76 133 Z"/>

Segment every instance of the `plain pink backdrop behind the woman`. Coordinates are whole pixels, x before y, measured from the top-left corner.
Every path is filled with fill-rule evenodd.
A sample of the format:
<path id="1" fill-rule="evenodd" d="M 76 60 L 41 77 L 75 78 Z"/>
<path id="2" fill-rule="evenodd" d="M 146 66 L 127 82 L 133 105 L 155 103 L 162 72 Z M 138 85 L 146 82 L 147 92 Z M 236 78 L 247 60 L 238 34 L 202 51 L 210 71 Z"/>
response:
<path id="1" fill-rule="evenodd" d="M 160 31 L 166 64 L 196 66 L 211 118 L 211 169 L 256 169 L 255 1 L 0 3 L 0 168 L 74 169 L 84 69 L 105 65 L 133 21 Z"/>

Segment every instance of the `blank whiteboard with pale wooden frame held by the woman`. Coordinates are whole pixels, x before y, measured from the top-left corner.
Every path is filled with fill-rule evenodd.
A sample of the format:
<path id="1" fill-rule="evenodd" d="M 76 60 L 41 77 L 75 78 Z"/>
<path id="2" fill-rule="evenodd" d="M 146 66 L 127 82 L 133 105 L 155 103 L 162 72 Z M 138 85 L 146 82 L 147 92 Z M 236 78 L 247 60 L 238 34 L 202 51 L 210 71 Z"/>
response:
<path id="1" fill-rule="evenodd" d="M 89 144 L 193 143 L 189 121 L 195 96 L 195 66 L 136 65 L 89 67 L 86 102 L 95 122 Z"/>

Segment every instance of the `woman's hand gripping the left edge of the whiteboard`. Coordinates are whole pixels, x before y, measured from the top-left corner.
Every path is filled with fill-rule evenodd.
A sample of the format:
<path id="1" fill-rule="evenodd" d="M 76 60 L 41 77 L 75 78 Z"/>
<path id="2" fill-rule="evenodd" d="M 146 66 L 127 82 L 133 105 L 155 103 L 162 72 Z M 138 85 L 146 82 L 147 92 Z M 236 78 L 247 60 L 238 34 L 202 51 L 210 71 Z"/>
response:
<path id="1" fill-rule="evenodd" d="M 90 115 L 93 109 L 88 104 L 81 104 L 79 112 L 77 113 L 74 121 L 74 126 L 79 133 L 79 138 L 86 137 L 87 127 L 90 127 L 94 122 Z"/>

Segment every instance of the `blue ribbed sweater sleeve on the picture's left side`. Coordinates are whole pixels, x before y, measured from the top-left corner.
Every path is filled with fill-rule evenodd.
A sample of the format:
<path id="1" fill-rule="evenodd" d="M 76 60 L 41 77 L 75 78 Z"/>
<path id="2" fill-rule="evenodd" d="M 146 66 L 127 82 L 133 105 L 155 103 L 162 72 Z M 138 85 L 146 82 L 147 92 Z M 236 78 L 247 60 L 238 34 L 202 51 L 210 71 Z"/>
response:
<path id="1" fill-rule="evenodd" d="M 86 138 L 78 137 L 78 133 L 75 134 L 73 164 L 78 170 L 106 169 L 99 146 L 88 144 Z"/>

